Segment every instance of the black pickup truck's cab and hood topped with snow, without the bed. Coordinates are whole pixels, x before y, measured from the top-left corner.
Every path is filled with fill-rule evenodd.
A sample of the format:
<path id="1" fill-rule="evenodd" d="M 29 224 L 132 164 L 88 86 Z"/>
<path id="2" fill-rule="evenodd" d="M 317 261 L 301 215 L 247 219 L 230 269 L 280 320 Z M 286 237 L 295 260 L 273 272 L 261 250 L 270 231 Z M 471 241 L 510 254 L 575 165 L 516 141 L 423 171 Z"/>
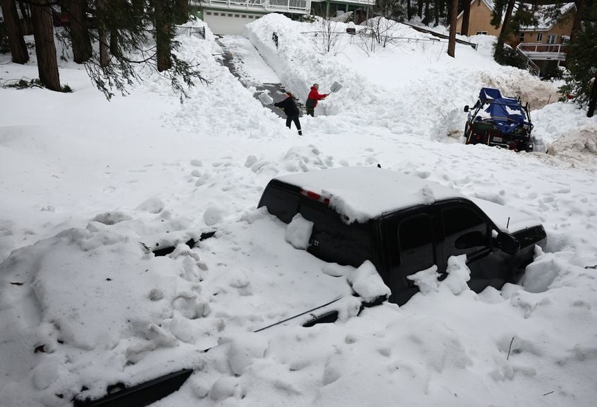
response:
<path id="1" fill-rule="evenodd" d="M 285 223 L 296 214 L 312 221 L 308 252 L 319 259 L 353 267 L 371 261 L 397 304 L 419 291 L 408 276 L 435 265 L 445 277 L 448 257 L 460 254 L 466 254 L 473 291 L 501 288 L 546 239 L 535 218 L 373 167 L 275 178 L 262 194 L 263 206 Z"/>

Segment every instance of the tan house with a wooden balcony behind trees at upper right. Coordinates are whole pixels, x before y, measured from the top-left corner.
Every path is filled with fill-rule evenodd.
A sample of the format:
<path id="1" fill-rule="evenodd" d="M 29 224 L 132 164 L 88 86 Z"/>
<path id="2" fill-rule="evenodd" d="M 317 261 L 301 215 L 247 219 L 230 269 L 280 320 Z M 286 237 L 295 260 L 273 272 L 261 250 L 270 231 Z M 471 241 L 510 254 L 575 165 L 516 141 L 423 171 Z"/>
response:
<path id="1" fill-rule="evenodd" d="M 548 6 L 539 6 L 548 7 Z M 491 10 L 494 3 L 491 0 L 472 0 L 471 15 L 469 17 L 469 35 L 487 34 L 500 35 L 501 26 L 491 26 Z M 457 16 L 456 31 L 462 28 L 462 15 Z M 576 6 L 565 3 L 560 8 L 561 17 L 555 22 L 539 17 L 535 26 L 523 26 L 520 31 L 506 40 L 506 43 L 520 53 L 523 53 L 541 73 L 560 66 L 566 60 L 566 42 L 570 39 Z"/>

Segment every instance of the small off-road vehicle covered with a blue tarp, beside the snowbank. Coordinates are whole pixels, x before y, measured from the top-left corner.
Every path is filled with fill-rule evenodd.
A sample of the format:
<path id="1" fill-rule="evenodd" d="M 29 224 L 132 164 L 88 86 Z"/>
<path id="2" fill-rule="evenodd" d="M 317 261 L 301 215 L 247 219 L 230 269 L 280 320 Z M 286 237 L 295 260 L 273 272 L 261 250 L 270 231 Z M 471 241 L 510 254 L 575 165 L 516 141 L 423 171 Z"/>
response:
<path id="1" fill-rule="evenodd" d="M 477 103 L 464 106 L 469 117 L 464 126 L 466 144 L 486 144 L 514 151 L 532 151 L 532 123 L 528 103 L 502 96 L 499 89 L 483 87 Z"/>

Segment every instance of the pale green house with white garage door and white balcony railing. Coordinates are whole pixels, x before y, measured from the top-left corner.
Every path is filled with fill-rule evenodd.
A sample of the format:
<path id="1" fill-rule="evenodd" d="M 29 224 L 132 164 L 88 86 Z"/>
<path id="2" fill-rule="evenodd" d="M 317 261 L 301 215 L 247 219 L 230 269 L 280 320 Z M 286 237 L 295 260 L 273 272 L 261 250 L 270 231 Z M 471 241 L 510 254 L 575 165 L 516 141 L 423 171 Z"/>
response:
<path id="1" fill-rule="evenodd" d="M 321 17 L 352 12 L 353 21 L 360 22 L 374 4 L 375 0 L 190 0 L 190 13 L 205 21 L 212 33 L 225 35 L 241 34 L 245 24 L 270 12 L 292 19 L 312 11 Z"/>

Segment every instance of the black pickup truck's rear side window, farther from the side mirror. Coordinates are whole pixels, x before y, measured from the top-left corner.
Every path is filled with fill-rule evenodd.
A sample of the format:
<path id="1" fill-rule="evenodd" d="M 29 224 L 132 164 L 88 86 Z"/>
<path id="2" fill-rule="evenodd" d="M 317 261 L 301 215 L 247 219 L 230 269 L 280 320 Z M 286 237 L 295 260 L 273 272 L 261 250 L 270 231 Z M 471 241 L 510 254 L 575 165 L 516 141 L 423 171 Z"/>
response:
<path id="1" fill-rule="evenodd" d="M 404 275 L 426 270 L 436 263 L 432 221 L 428 215 L 403 220 L 398 225 L 398 242 Z"/>

